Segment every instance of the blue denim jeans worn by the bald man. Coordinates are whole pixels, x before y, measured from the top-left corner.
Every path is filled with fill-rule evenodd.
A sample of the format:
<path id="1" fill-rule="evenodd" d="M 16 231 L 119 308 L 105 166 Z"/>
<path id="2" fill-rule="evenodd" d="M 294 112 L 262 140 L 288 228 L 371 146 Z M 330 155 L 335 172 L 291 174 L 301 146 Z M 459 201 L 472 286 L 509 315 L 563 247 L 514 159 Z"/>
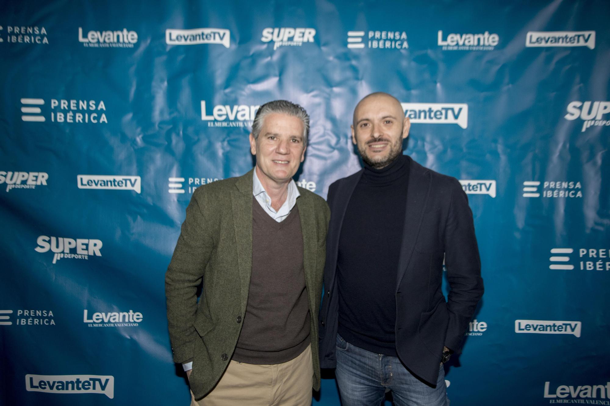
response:
<path id="1" fill-rule="evenodd" d="M 397 357 L 375 354 L 343 340 L 337 334 L 335 371 L 343 406 L 378 406 L 386 389 L 397 406 L 448 406 L 445 370 L 440 365 L 436 388 L 414 377 Z"/>

